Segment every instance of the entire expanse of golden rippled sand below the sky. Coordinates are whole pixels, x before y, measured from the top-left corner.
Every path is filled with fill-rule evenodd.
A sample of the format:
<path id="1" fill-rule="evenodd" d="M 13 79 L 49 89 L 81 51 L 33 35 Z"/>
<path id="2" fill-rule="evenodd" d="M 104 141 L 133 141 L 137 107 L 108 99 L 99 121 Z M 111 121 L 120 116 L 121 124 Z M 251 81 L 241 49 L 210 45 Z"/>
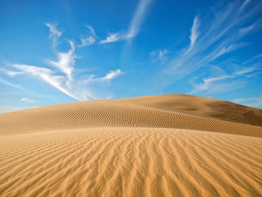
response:
<path id="1" fill-rule="evenodd" d="M 0 114 L 0 196 L 262 196 L 261 115 L 189 95 Z"/>

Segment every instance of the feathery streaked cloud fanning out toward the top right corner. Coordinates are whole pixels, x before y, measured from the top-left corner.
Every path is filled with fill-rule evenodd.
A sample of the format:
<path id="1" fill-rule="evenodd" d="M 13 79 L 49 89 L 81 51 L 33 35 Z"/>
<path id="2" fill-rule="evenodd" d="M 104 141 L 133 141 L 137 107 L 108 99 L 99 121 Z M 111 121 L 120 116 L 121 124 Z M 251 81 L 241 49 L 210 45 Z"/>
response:
<path id="1" fill-rule="evenodd" d="M 247 42 L 237 41 L 261 25 L 259 19 L 249 25 L 243 24 L 250 23 L 249 19 L 262 10 L 262 2 L 257 1 L 247 7 L 248 3 L 243 4 L 242 8 L 237 3 L 229 3 L 226 7 L 213 7 L 211 10 L 214 18 L 195 17 L 189 36 L 190 44 L 176 53 L 162 69 L 162 73 L 156 73 L 156 85 L 165 87 L 203 66 L 212 65 L 212 61 L 222 54 L 247 46 Z M 242 10 L 241 13 L 239 9 Z"/>

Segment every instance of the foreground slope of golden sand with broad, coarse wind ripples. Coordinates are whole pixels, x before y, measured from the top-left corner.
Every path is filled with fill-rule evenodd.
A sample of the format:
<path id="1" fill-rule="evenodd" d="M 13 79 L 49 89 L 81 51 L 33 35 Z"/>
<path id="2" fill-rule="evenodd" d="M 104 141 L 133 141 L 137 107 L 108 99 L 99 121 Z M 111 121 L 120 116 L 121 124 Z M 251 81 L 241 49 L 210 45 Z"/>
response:
<path id="1" fill-rule="evenodd" d="M 262 194 L 261 138 L 93 128 L 5 136 L 0 149 L 1 196 Z"/>

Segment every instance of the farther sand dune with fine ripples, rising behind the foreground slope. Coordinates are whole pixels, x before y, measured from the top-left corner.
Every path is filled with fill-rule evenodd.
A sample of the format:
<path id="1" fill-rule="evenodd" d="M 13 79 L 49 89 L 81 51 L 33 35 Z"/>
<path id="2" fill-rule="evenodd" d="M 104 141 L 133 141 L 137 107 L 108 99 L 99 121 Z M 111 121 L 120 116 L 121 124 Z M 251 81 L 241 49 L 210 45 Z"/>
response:
<path id="1" fill-rule="evenodd" d="M 228 110 L 230 113 L 223 114 L 217 107 L 211 107 L 218 105 L 227 105 L 230 108 L 237 104 L 190 95 L 157 95 L 66 103 L 0 114 L 0 133 L 7 135 L 62 128 L 117 126 L 189 129 L 262 137 L 261 127 L 225 122 L 236 120 L 250 124 L 245 119 L 240 121 L 243 118 L 238 111 L 242 109 L 253 113 L 249 116 L 256 122 L 252 123 L 260 125 L 262 117 L 257 114 L 262 114 L 262 110 L 238 105 L 238 111 Z M 259 113 L 255 114 L 252 110 Z M 217 117 L 214 117 L 215 115 Z"/>

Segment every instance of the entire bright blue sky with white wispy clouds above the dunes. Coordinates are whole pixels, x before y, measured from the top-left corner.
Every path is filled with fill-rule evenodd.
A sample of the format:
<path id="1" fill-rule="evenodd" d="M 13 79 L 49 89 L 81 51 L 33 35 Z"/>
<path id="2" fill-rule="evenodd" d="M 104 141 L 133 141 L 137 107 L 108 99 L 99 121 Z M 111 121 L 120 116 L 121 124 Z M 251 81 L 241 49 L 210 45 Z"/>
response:
<path id="1" fill-rule="evenodd" d="M 262 2 L 1 1 L 0 113 L 191 94 L 262 108 Z"/>

